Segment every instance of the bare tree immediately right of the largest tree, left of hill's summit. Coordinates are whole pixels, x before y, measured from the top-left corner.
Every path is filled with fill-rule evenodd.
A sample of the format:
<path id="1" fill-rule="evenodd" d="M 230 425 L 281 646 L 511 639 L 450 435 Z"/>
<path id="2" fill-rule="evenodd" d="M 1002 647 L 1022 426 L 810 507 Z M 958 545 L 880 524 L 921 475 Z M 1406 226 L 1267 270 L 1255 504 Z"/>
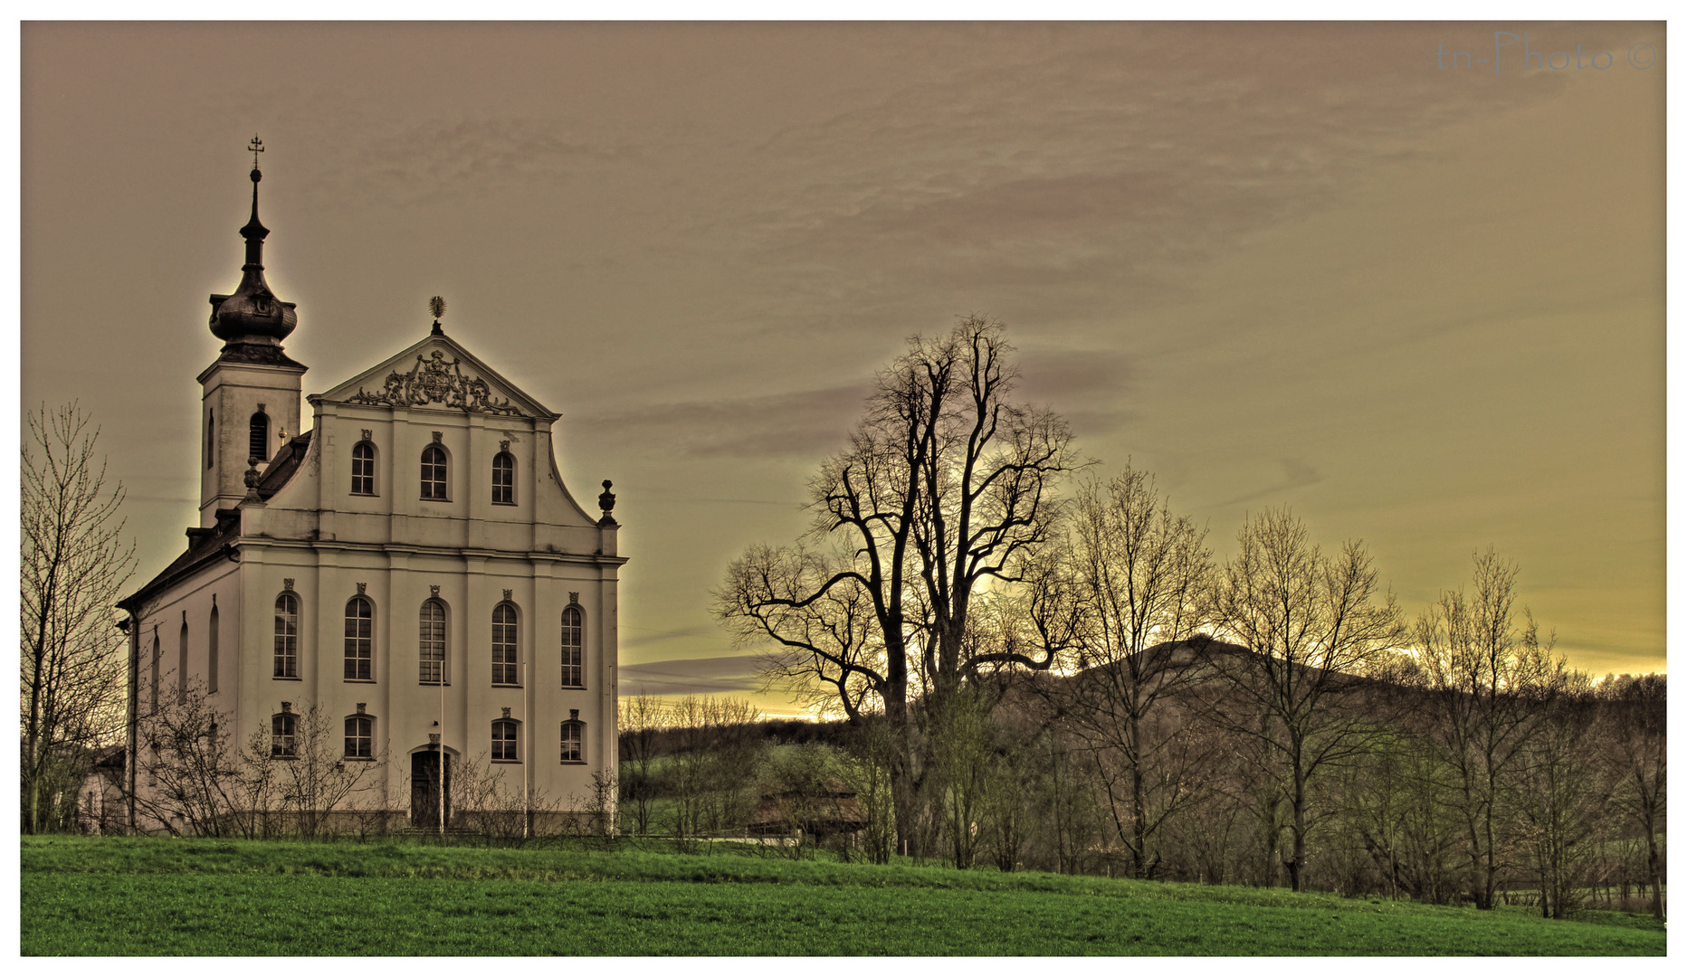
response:
<path id="1" fill-rule="evenodd" d="M 1041 688 L 1093 751 L 1115 834 L 1142 879 L 1159 866 L 1166 820 L 1201 795 L 1210 768 L 1213 741 L 1166 709 L 1205 675 L 1198 633 L 1213 567 L 1203 540 L 1193 520 L 1171 513 L 1151 474 L 1127 466 L 1105 488 L 1080 489 L 1070 538 L 1046 574 L 1071 582 L 1038 591 L 1068 594 L 1044 606 L 1075 607 L 1083 667 Z M 1027 616 L 1064 619 L 1039 611 Z"/>

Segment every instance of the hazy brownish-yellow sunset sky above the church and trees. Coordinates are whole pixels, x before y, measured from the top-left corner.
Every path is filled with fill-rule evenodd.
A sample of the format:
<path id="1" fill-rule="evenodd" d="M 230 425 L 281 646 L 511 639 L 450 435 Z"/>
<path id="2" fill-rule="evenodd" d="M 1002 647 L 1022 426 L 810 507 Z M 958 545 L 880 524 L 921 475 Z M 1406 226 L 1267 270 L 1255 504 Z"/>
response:
<path id="1" fill-rule="evenodd" d="M 614 479 L 623 694 L 801 712 L 710 591 L 972 312 L 1220 557 L 1287 505 L 1415 614 L 1493 547 L 1572 665 L 1665 670 L 1662 25 L 30 22 L 20 74 L 22 403 L 101 425 L 142 577 L 256 132 L 307 393 L 444 295 Z"/>

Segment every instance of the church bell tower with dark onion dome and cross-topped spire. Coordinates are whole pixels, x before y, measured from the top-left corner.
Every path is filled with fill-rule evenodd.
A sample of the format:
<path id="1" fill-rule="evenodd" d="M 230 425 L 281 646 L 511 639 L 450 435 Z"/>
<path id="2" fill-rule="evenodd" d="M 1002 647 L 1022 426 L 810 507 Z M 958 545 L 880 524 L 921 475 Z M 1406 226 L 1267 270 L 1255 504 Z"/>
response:
<path id="1" fill-rule="evenodd" d="M 263 240 L 270 229 L 258 221 L 258 154 L 251 137 L 251 219 L 240 229 L 246 263 L 233 295 L 211 295 L 211 334 L 223 349 L 199 375 L 202 388 L 199 525 L 216 525 L 216 510 L 233 508 L 246 496 L 246 469 L 263 472 L 282 445 L 282 435 L 299 434 L 299 395 L 305 364 L 282 349 L 299 326 L 292 302 L 282 302 L 263 280 Z"/>

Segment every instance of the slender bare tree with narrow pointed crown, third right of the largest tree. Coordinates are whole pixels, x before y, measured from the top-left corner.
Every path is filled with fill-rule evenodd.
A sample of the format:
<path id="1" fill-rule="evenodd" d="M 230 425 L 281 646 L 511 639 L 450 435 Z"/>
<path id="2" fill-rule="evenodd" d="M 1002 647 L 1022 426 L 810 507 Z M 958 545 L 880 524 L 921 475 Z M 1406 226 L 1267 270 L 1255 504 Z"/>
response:
<path id="1" fill-rule="evenodd" d="M 1432 737 L 1453 769 L 1449 800 L 1464 827 L 1471 901 L 1493 908 L 1513 832 L 1505 786 L 1544 709 L 1566 680 L 1533 616 L 1517 609 L 1517 564 L 1474 557 L 1469 591 L 1446 591 L 1412 638 L 1436 707 Z"/>

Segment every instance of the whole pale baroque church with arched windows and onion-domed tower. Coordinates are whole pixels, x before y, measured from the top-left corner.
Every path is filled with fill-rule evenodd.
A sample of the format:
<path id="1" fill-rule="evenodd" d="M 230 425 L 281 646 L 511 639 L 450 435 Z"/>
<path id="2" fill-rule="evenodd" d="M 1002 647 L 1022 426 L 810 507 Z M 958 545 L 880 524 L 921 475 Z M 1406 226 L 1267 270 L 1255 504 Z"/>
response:
<path id="1" fill-rule="evenodd" d="M 305 397 L 302 430 L 307 368 L 282 346 L 299 314 L 263 277 L 260 179 L 255 162 L 240 285 L 211 295 L 199 525 L 120 604 L 130 795 L 148 790 L 145 717 L 201 695 L 236 748 L 267 732 L 275 761 L 315 707 L 336 748 L 344 732 L 336 763 L 375 764 L 359 807 L 390 827 L 462 823 L 449 783 L 466 761 L 504 796 L 587 810 L 617 756 L 611 483 L 594 516 L 557 467 L 558 415 L 447 336 L 439 299 L 417 343 Z"/>

